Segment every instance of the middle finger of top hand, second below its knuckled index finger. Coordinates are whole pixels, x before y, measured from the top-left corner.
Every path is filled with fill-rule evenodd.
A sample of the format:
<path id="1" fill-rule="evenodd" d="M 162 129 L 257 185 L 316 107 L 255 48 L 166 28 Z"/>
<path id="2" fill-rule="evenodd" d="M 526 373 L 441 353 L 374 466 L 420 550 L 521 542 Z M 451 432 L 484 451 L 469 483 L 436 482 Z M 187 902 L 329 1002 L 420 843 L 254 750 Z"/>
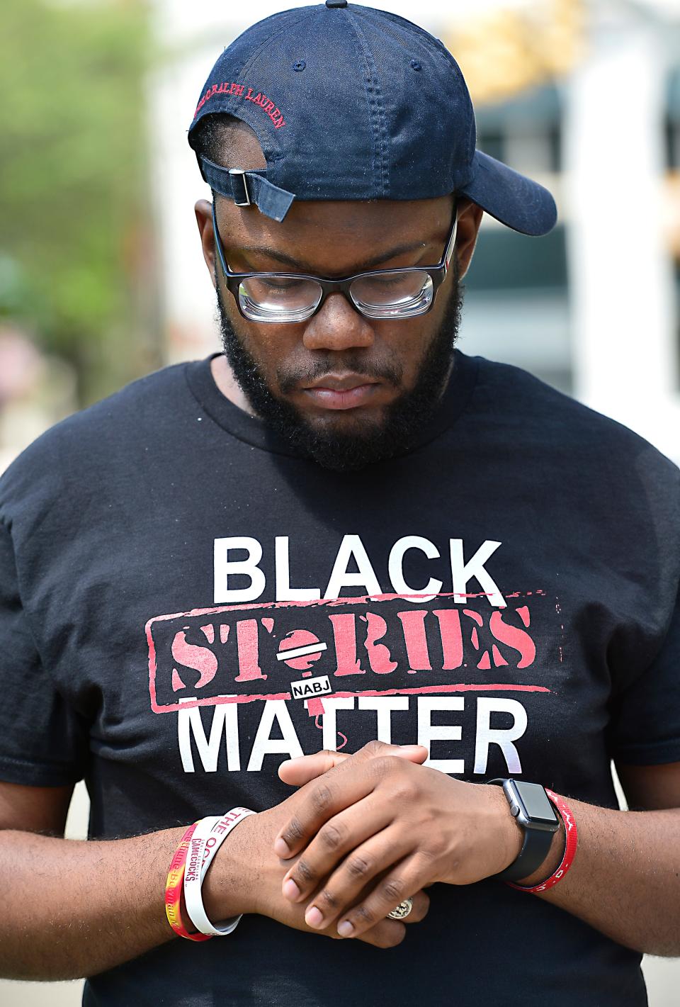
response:
<path id="1" fill-rule="evenodd" d="M 284 877 L 284 897 L 291 902 L 301 902 L 311 896 L 348 853 L 381 833 L 393 820 L 393 806 L 376 802 L 373 795 L 335 815 L 320 829 Z M 395 859 L 384 866 L 390 867 Z"/>

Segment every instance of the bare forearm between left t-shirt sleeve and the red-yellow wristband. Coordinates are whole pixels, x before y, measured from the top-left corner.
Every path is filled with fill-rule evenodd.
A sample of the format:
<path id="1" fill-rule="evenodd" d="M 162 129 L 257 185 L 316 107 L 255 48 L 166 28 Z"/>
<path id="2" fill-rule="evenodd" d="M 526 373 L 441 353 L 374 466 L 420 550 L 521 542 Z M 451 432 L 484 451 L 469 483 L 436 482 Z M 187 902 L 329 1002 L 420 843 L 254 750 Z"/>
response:
<path id="1" fill-rule="evenodd" d="M 64 840 L 70 795 L 68 786 L 0 783 L 4 978 L 94 975 L 173 938 L 163 893 L 184 829 L 114 842 Z"/>

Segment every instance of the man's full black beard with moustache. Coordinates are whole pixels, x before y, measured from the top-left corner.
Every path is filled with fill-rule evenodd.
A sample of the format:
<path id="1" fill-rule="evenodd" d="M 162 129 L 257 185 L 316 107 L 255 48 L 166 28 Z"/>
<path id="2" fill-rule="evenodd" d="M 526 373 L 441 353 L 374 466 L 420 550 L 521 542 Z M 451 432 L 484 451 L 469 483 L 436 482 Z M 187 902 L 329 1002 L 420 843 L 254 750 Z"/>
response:
<path id="1" fill-rule="evenodd" d="M 447 310 L 422 355 L 415 384 L 385 408 L 381 421 L 364 418 L 354 430 L 337 430 L 334 429 L 333 417 L 329 417 L 330 422 L 310 423 L 298 409 L 277 398 L 260 365 L 235 332 L 218 287 L 217 315 L 224 356 L 256 415 L 270 430 L 283 437 L 295 453 L 336 471 L 354 471 L 393 458 L 418 442 L 444 395 L 463 308 L 463 287 L 455 260 L 452 273 L 453 290 Z M 407 322 L 404 320 L 402 324 Z M 286 394 L 299 388 L 301 383 L 311 383 L 327 375 L 337 366 L 337 353 L 318 351 L 314 362 L 304 369 L 277 372 L 277 383 L 281 392 Z M 402 378 L 402 368 L 393 359 L 377 359 L 370 364 L 357 352 L 343 353 L 342 369 L 386 381 L 395 387 Z"/>

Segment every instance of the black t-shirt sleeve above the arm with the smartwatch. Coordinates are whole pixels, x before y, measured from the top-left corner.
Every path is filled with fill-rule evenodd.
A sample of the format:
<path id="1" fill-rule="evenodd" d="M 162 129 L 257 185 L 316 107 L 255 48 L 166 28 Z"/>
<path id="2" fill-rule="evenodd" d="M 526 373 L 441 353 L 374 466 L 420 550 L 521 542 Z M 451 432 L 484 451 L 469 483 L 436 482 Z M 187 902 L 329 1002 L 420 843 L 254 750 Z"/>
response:
<path id="1" fill-rule="evenodd" d="M 680 762 L 680 593 L 661 650 L 613 703 L 610 743 L 622 765 Z"/>

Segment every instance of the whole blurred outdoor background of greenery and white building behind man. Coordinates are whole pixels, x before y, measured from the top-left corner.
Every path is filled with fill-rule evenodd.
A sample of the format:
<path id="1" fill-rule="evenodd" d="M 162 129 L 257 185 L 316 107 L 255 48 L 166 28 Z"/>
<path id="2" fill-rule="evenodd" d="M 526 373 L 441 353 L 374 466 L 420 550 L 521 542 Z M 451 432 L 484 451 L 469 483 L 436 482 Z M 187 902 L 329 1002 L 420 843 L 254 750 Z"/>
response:
<path id="1" fill-rule="evenodd" d="M 0 471 L 68 413 L 219 348 L 186 131 L 220 50 L 300 2 L 2 0 Z M 680 0 L 372 5 L 443 39 L 478 146 L 559 207 L 540 240 L 485 218 L 461 348 L 680 462 Z M 70 835 L 87 814 L 78 787 Z M 680 961 L 645 972 L 651 1007 L 675 1007 Z M 65 1007 L 79 988 L 0 982 L 0 1004 Z"/>

